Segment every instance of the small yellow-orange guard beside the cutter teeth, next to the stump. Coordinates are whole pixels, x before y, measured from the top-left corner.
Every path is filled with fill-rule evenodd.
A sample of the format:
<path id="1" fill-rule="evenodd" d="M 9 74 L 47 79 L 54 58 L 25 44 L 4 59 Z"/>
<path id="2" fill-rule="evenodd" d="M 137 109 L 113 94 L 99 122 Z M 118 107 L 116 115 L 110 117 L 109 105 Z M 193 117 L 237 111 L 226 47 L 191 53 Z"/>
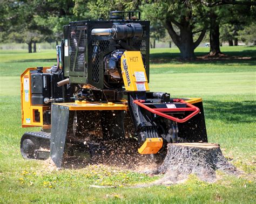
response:
<path id="1" fill-rule="evenodd" d="M 138 149 L 140 154 L 156 154 L 163 146 L 163 138 L 146 138 L 146 141 Z"/>

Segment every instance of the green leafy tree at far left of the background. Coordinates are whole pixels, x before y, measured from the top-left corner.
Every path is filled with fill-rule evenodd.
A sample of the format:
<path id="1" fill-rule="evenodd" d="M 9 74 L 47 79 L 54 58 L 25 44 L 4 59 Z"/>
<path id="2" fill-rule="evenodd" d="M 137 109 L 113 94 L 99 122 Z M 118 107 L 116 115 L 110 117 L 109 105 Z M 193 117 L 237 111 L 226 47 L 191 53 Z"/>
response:
<path id="1" fill-rule="evenodd" d="M 0 21 L 0 32 L 9 42 L 27 43 L 29 53 L 36 52 L 36 43 L 62 39 L 63 25 L 78 19 L 74 5 L 72 0 L 4 0 L 0 10 L 7 21 Z"/>

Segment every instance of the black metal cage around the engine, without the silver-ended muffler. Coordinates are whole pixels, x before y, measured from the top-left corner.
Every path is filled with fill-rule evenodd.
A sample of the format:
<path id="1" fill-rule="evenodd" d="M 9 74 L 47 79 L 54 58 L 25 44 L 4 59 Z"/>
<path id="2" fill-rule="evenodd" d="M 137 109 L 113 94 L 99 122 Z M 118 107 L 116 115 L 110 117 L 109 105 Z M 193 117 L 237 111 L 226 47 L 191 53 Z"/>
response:
<path id="1" fill-rule="evenodd" d="M 93 36 L 92 29 L 112 28 L 114 24 L 139 23 L 142 37 L 113 39 L 112 36 Z M 64 26 L 64 74 L 71 83 L 89 84 L 104 88 L 104 57 L 114 50 L 140 51 L 149 80 L 150 22 L 139 19 L 85 20 Z"/>

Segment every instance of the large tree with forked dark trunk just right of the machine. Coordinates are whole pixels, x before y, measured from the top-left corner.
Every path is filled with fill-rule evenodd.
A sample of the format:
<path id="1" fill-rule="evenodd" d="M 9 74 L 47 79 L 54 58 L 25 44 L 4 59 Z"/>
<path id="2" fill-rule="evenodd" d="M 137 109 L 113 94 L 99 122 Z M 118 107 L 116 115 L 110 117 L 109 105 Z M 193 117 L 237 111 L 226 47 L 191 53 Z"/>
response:
<path id="1" fill-rule="evenodd" d="M 181 59 L 195 59 L 194 49 L 201 43 L 208 28 L 208 9 L 205 6 L 193 0 L 152 0 L 145 3 L 142 10 L 152 22 L 161 20 L 179 48 Z M 194 39 L 195 36 L 198 38 Z"/>

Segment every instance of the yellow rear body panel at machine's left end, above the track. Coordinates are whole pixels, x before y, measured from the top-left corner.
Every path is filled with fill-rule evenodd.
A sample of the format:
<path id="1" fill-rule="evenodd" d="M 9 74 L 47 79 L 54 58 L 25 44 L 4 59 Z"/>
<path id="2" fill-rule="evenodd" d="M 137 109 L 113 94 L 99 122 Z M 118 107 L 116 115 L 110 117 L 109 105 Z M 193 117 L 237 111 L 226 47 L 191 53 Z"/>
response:
<path id="1" fill-rule="evenodd" d="M 44 67 L 43 71 L 49 67 Z M 22 102 L 22 127 L 42 126 L 50 128 L 50 125 L 43 123 L 43 111 L 49 109 L 50 106 L 32 105 L 31 103 L 31 74 L 30 71 L 35 68 L 27 68 L 21 75 L 21 102 Z"/>

